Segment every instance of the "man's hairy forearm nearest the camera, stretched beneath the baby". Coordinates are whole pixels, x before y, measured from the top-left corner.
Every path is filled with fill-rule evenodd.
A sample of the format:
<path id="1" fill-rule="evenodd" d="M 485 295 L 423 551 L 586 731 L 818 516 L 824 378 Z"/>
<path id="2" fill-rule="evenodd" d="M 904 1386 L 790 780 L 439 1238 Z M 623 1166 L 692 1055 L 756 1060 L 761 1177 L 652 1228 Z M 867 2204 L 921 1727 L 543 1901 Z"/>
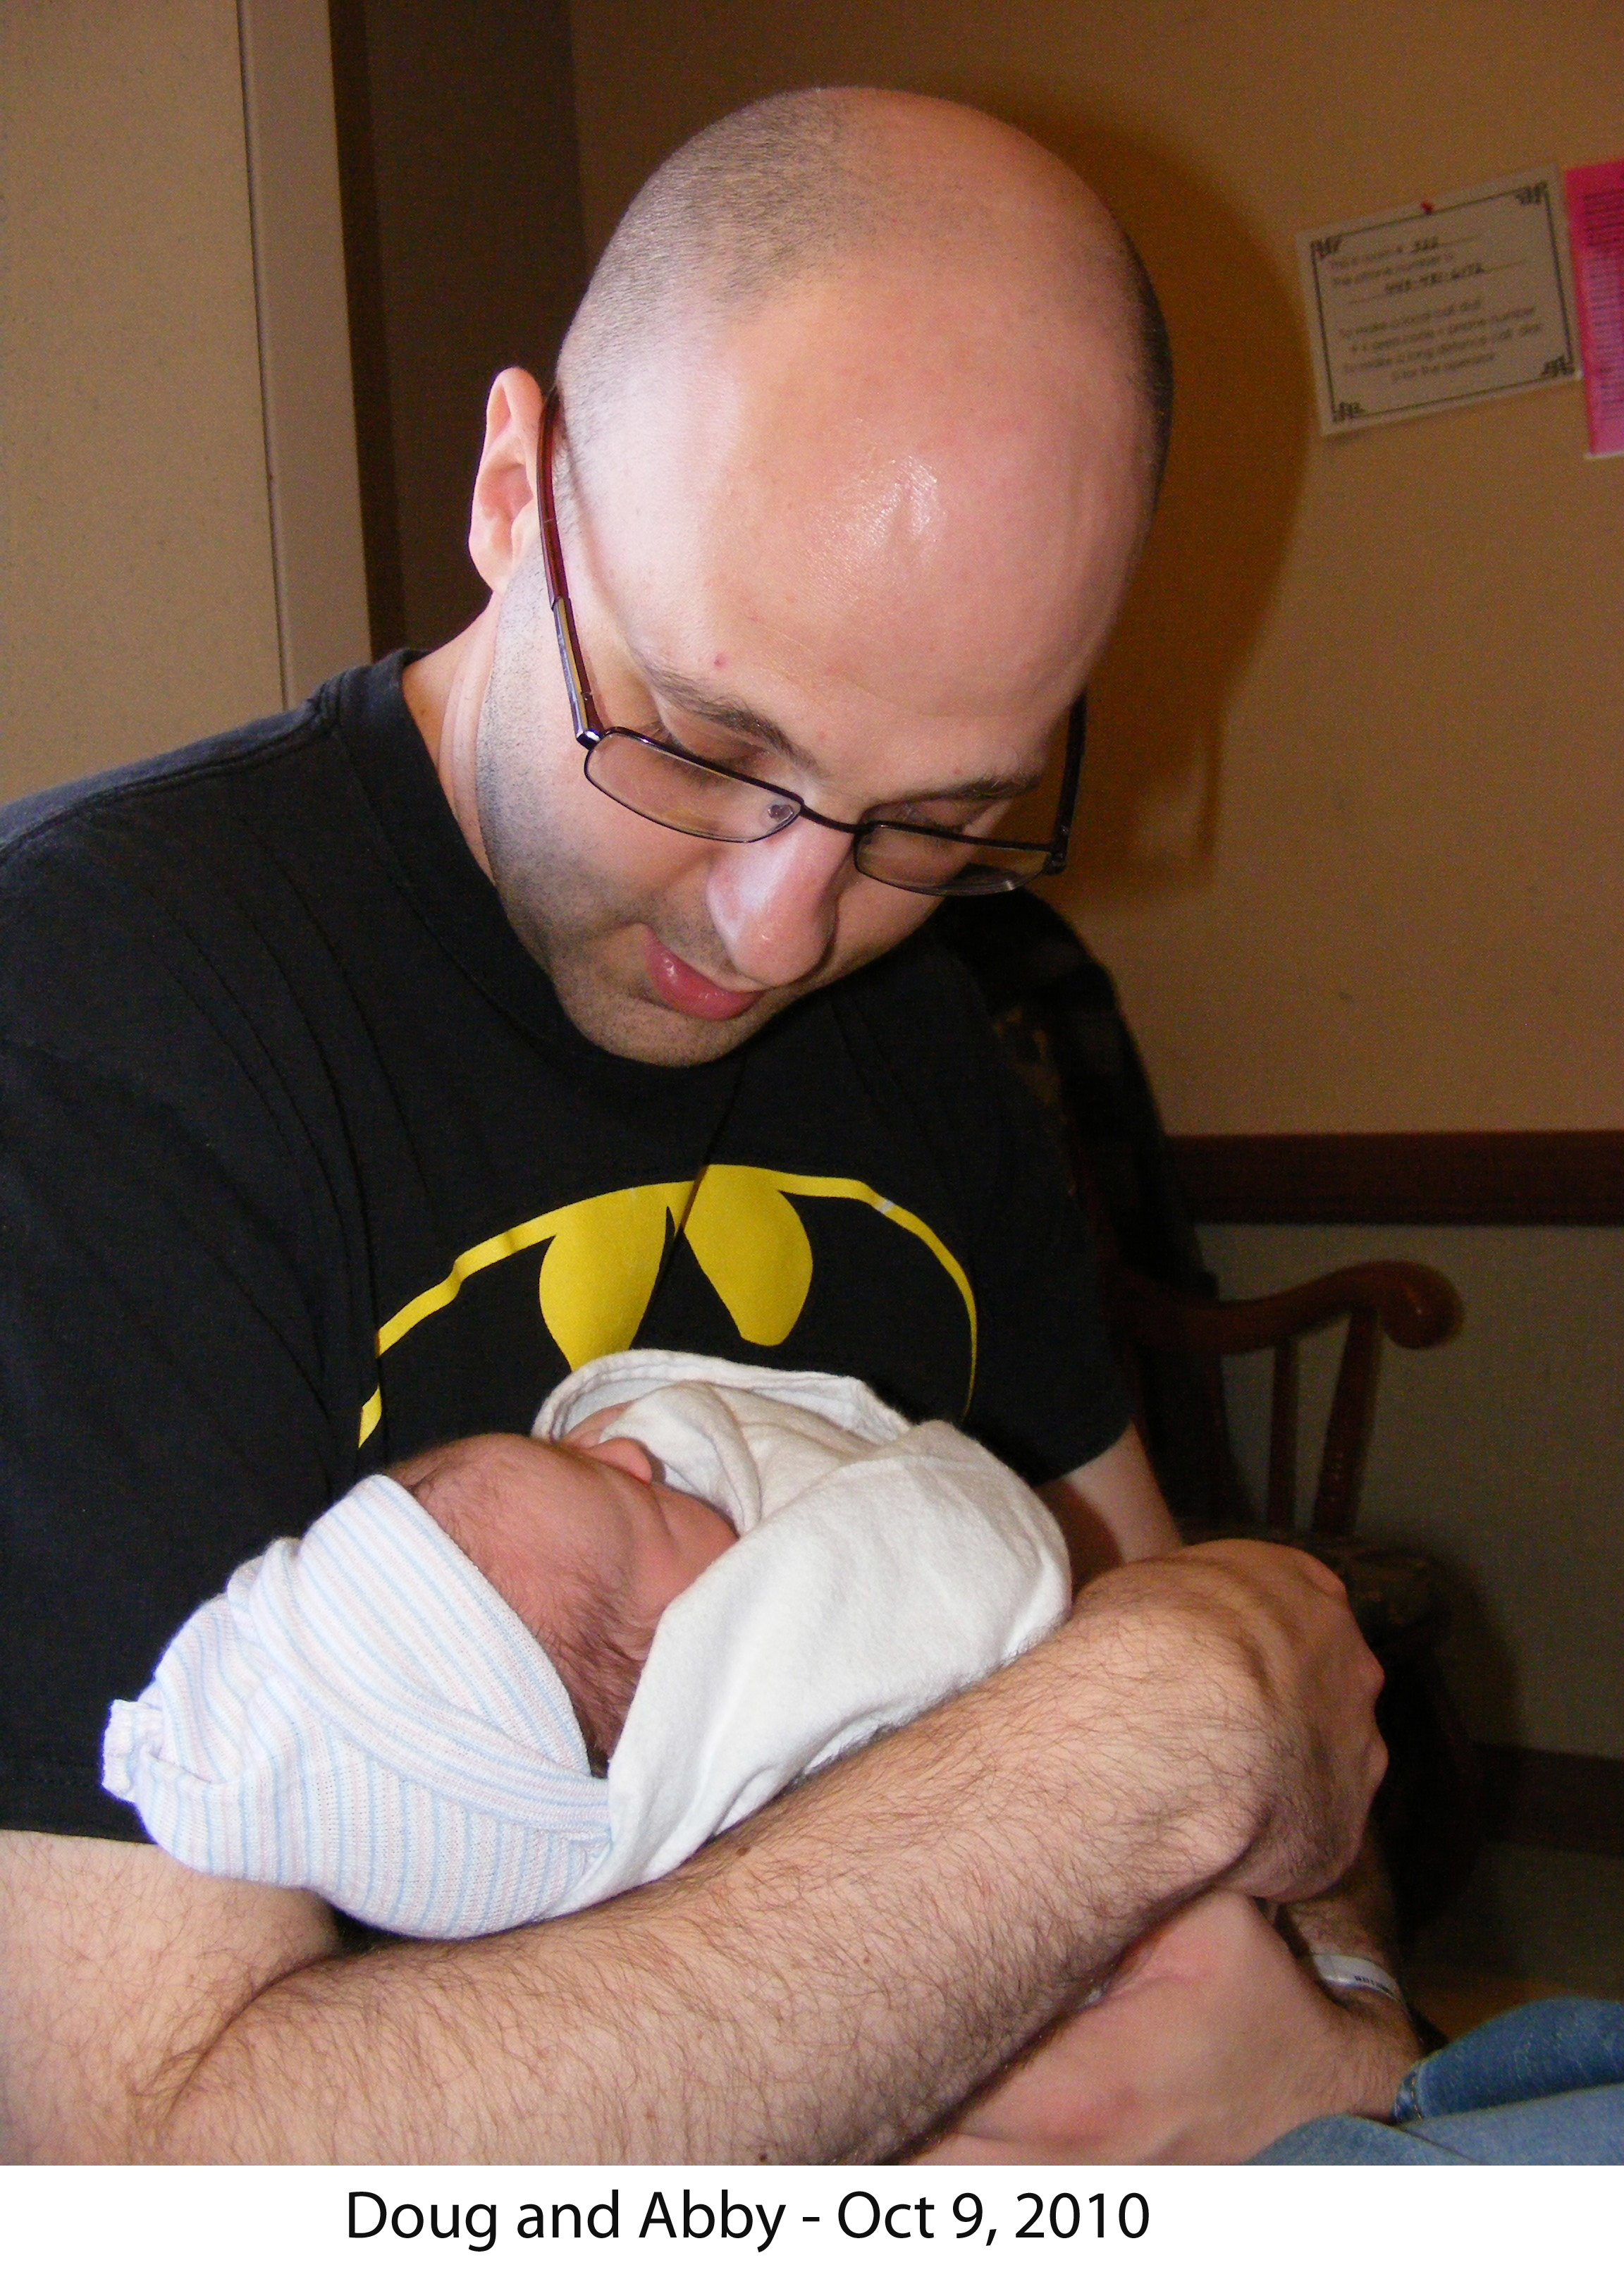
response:
<path id="1" fill-rule="evenodd" d="M 286 1978 L 199 2060 L 153 2154 L 900 2147 L 1245 1845 L 1158 1734 L 1176 1676 L 1147 1690 L 1124 1649 L 1110 1622 L 1074 1622 L 596 1912 Z M 1062 1704 L 1074 1750 L 1058 1750 Z M 998 1816 L 966 1825 L 975 1798 Z"/>

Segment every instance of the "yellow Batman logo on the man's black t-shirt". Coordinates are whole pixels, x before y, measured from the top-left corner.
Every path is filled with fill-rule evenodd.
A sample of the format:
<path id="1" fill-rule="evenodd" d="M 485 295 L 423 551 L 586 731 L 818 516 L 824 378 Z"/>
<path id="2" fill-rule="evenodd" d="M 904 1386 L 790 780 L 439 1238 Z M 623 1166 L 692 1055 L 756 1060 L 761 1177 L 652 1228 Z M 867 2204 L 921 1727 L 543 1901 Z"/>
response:
<path id="1" fill-rule="evenodd" d="M 644 1320 L 665 1258 L 667 1224 L 733 1318 L 742 1341 L 779 1348 L 806 1306 L 813 1252 L 793 1197 L 847 1197 L 907 1229 L 959 1288 L 971 1327 L 971 1386 L 975 1386 L 975 1295 L 971 1281 L 927 1222 L 866 1181 L 838 1174 L 774 1174 L 761 1165 L 708 1165 L 697 1183 L 656 1181 L 608 1190 L 573 1206 L 555 1206 L 518 1222 L 452 1261 L 441 1284 L 397 1309 L 377 1336 L 379 1357 L 404 1341 L 427 1316 L 448 1309 L 464 1284 L 509 1254 L 544 1245 L 539 1302 L 546 1329 L 571 1370 L 630 1348 Z M 361 1409 L 361 1441 L 384 1416 L 384 1391 Z"/>

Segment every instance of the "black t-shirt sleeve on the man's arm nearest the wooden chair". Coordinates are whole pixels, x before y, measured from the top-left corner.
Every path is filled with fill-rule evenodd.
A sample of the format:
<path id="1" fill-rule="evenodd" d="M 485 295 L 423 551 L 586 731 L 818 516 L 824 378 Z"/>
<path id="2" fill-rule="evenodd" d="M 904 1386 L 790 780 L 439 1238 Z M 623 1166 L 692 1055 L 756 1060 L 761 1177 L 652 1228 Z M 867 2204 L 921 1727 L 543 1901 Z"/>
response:
<path id="1" fill-rule="evenodd" d="M 994 1179 L 973 1249 L 980 1354 L 964 1421 L 989 1450 L 1053 1482 L 1108 1450 L 1133 1416 L 1099 1293 L 1094 1238 L 1053 1135 L 991 1030 Z"/>

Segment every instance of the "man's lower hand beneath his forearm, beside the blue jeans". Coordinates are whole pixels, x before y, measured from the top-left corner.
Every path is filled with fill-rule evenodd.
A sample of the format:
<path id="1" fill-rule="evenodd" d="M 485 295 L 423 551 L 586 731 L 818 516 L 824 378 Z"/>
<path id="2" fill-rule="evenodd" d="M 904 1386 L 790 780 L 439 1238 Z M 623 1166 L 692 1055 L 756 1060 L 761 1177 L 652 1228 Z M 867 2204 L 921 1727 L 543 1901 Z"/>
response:
<path id="1" fill-rule="evenodd" d="M 1236 2163 L 1309 2117 L 1386 2117 L 1418 2051 L 1400 2005 L 1332 1998 L 1254 1903 L 1204 1896 L 920 2163 Z"/>

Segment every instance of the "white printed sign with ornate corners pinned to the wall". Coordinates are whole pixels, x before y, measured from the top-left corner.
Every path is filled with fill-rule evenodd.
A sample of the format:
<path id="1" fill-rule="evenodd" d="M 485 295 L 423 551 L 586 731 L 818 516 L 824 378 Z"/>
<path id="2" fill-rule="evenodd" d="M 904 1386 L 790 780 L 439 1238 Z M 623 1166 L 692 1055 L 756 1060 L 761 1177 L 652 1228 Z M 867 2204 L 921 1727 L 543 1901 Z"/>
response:
<path id="1" fill-rule="evenodd" d="M 1302 231 L 1297 263 L 1325 436 L 1578 372 L 1560 167 Z"/>

